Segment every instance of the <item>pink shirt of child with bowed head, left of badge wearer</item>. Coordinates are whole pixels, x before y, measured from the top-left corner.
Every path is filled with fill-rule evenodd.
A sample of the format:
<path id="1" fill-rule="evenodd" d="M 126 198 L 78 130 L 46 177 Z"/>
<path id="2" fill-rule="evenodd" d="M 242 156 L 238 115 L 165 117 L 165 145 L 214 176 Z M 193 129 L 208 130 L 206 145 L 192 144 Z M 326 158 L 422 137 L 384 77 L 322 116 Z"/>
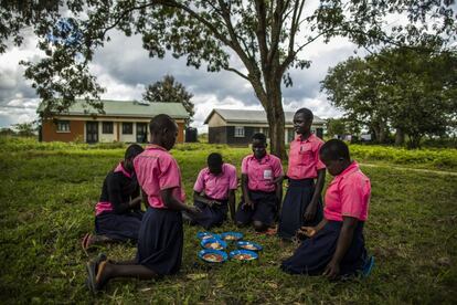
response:
<path id="1" fill-rule="evenodd" d="M 226 200 L 230 190 L 236 190 L 236 168 L 230 164 L 222 165 L 222 172 L 213 175 L 206 167 L 202 169 L 196 178 L 193 190 L 202 192 L 216 200 Z"/>

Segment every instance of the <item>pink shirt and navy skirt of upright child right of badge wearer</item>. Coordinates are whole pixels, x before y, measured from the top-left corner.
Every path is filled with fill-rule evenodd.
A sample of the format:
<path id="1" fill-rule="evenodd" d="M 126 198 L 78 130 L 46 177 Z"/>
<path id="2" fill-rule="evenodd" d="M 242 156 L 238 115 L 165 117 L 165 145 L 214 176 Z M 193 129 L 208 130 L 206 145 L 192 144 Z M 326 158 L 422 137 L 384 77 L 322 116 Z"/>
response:
<path id="1" fill-rule="evenodd" d="M 316 225 L 322 220 L 322 203 L 319 199 L 316 217 L 305 222 L 304 214 L 315 193 L 315 179 L 318 170 L 326 168 L 319 159 L 319 149 L 323 141 L 311 134 L 307 139 L 301 135 L 290 143 L 287 177 L 289 186 L 284 199 L 279 218 L 278 234 L 291 239 L 302 225 Z"/>

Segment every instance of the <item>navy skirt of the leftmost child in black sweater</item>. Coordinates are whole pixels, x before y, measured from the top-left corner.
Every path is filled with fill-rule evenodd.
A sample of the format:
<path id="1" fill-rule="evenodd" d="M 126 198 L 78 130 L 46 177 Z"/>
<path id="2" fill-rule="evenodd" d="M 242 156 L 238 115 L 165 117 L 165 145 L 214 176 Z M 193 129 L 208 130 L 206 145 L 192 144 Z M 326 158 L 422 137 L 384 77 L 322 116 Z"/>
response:
<path id="1" fill-rule="evenodd" d="M 136 242 L 144 214 L 141 211 L 130 211 L 125 214 L 104 212 L 95 217 L 95 232 L 115 241 Z"/>

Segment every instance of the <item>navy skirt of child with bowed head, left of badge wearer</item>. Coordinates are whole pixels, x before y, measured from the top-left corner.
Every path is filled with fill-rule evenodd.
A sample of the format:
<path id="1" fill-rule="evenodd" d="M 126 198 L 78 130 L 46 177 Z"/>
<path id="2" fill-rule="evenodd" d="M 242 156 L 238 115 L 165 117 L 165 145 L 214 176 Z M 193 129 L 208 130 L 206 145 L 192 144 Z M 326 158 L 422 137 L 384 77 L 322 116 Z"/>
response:
<path id="1" fill-rule="evenodd" d="M 213 207 L 209 207 L 201 201 L 194 200 L 193 204 L 198 207 L 202 212 L 196 218 L 192 218 L 192 220 L 202 225 L 205 230 L 210 230 L 212 227 L 221 225 L 227 218 L 228 207 L 227 200 L 217 201 L 220 201 L 222 204 L 214 204 Z"/>

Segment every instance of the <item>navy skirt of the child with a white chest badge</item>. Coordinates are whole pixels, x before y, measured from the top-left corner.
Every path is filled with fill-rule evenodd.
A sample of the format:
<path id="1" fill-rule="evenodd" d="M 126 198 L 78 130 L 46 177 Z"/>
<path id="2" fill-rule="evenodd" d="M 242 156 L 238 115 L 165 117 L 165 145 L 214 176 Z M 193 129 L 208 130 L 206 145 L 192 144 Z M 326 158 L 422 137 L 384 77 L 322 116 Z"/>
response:
<path id="1" fill-rule="evenodd" d="M 276 192 L 249 190 L 249 198 L 254 202 L 254 209 L 246 207 L 243 201 L 240 202 L 235 214 L 236 222 L 248 224 L 252 221 L 259 221 L 272 225 L 277 210 Z"/>

